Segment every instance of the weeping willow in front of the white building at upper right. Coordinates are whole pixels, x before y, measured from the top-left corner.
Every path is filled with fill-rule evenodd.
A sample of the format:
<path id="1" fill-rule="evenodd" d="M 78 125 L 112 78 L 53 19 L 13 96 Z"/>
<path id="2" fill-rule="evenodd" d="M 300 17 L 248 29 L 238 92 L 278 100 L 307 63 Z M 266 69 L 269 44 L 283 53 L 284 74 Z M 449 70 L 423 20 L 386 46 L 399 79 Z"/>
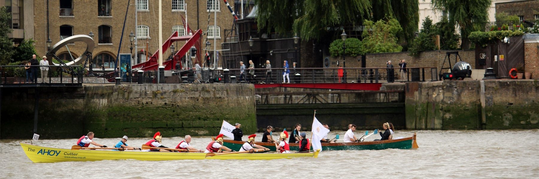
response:
<path id="1" fill-rule="evenodd" d="M 490 0 L 431 0 L 435 9 L 445 10 L 451 24 L 458 25 L 462 49 L 469 49 L 468 35 L 488 22 Z"/>

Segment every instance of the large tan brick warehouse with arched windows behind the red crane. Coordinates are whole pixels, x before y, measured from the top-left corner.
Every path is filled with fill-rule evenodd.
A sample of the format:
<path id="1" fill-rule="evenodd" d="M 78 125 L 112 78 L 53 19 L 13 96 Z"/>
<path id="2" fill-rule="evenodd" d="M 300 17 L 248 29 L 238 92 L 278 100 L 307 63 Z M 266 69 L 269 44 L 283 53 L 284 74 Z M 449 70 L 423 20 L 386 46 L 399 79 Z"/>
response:
<path id="1" fill-rule="evenodd" d="M 135 1 L 137 6 L 135 7 Z M 214 28 L 214 10 L 212 3 L 217 3 L 217 25 Z M 233 1 L 229 2 L 231 6 Z M 184 5 L 186 4 L 186 6 Z M 112 0 L 0 0 L 0 5 L 8 6 L 8 11 L 12 13 L 13 32 L 10 38 L 17 44 L 22 39 L 34 39 L 38 56 L 46 53 L 47 37 L 52 40 L 52 45 L 56 44 L 61 38 L 71 35 L 94 33 L 96 47 L 93 51 L 94 71 L 105 69 L 113 70 L 115 65 L 118 48 L 121 46 L 120 53 L 130 53 L 129 34 L 131 31 L 136 33 L 138 41 L 138 59 L 132 64 L 143 62 L 147 59 L 147 53 L 151 56 L 158 44 L 158 1 L 157 0 L 131 0 L 112 1 Z M 135 28 L 135 9 L 137 11 L 137 28 Z M 126 18 L 127 12 L 127 18 Z M 185 15 L 187 13 L 187 15 Z M 173 31 L 179 34 L 185 34 L 182 23 L 183 16 L 187 18 L 189 26 L 196 31 L 202 29 L 204 32 L 201 38 L 201 44 L 205 44 L 206 38 L 212 44 L 217 43 L 217 49 L 220 49 L 220 43 L 224 41 L 225 28 L 231 28 L 233 17 L 223 1 L 218 0 L 163 0 L 162 1 L 162 25 L 163 42 L 167 40 Z M 125 20 L 125 29 L 122 27 Z M 215 33 L 212 33 L 216 29 Z M 210 33 L 206 33 L 210 30 Z M 216 41 L 213 41 L 213 34 Z M 175 42 L 176 49 L 183 46 L 183 42 Z M 51 45 L 51 46 L 52 46 Z M 78 58 L 86 44 L 84 42 L 75 42 L 59 49 L 56 53 L 60 59 L 70 60 Z M 206 47 L 202 47 L 206 48 Z M 202 49 L 199 48 L 199 49 Z M 70 51 L 71 54 L 68 52 Z M 203 51 L 204 53 L 204 51 Z M 133 49 L 133 55 L 135 48 Z M 172 52 L 170 49 L 164 53 L 168 57 Z M 31 56 L 29 56 L 29 59 Z M 26 59 L 23 59 L 26 60 Z M 99 73 L 99 72 L 98 72 Z"/>

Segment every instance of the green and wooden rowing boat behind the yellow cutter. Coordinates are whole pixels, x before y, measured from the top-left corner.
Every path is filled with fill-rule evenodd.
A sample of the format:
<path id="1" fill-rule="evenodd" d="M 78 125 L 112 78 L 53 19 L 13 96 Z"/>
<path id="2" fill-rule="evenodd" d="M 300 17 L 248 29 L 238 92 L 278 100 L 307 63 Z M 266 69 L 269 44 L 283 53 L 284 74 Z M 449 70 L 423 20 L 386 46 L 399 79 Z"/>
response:
<path id="1" fill-rule="evenodd" d="M 245 144 L 245 141 L 223 140 L 223 145 L 239 151 L 241 145 Z M 270 151 L 275 151 L 275 144 L 270 142 L 254 142 L 256 145 L 269 148 Z M 298 151 L 299 144 L 289 144 L 291 151 Z M 378 140 L 378 141 L 363 141 L 363 142 L 335 142 L 327 143 L 322 142 L 322 151 L 351 151 L 351 150 L 382 150 L 388 148 L 397 149 L 410 149 L 419 148 L 416 142 L 416 133 L 412 137 L 393 139 L 393 140 Z M 311 147 L 311 149 L 313 149 Z"/>

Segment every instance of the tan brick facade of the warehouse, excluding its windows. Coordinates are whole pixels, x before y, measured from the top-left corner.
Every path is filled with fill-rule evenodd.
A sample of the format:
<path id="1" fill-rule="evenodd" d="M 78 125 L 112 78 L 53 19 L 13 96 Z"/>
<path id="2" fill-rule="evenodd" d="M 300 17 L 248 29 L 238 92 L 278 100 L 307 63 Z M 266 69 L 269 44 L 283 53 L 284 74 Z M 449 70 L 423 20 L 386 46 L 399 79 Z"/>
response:
<path id="1" fill-rule="evenodd" d="M 197 10 L 198 2 L 198 10 Z M 228 1 L 230 6 L 234 6 L 234 1 Z M 127 11 L 127 19 L 125 24 L 125 30 L 123 32 L 122 44 L 120 44 L 120 38 L 122 37 L 122 27 L 124 19 L 126 17 L 127 10 L 127 1 L 111 1 L 112 10 L 111 15 L 107 17 L 98 16 L 98 3 L 93 0 L 77 0 L 73 1 L 73 16 L 59 16 L 60 11 L 60 2 L 49 1 L 49 34 L 47 34 L 47 4 L 46 1 L 36 1 L 33 6 L 33 15 L 34 15 L 34 34 L 33 38 L 36 40 L 35 47 L 38 53 L 38 56 L 45 55 L 46 51 L 46 40 L 47 36 L 52 39 L 52 42 L 56 44 L 60 41 L 60 26 L 61 25 L 71 25 L 73 26 L 73 35 L 77 34 L 88 34 L 92 31 L 95 41 L 96 48 L 93 51 L 93 57 L 101 53 L 106 53 L 111 55 L 114 59 L 118 53 L 118 47 L 121 46 L 120 53 L 130 53 L 129 46 L 129 33 L 133 31 L 136 32 L 135 28 L 135 6 L 134 1 L 131 1 L 129 10 Z M 186 0 L 187 4 L 187 18 L 189 26 L 192 30 L 196 31 L 198 28 L 202 29 L 203 32 L 208 30 L 207 26 L 213 25 L 213 12 L 211 12 L 210 20 L 208 20 L 208 13 L 206 10 L 206 1 L 198 0 Z M 163 42 L 167 40 L 172 34 L 172 26 L 182 25 L 182 19 L 180 17 L 185 17 L 185 11 L 172 11 L 171 1 L 162 2 L 162 29 L 163 29 Z M 226 8 L 225 3 L 220 1 L 219 3 L 220 11 L 217 11 L 217 26 L 220 27 L 220 38 L 217 38 L 217 49 L 220 49 L 219 45 L 224 41 L 224 30 L 225 28 L 230 29 L 232 26 L 233 17 L 230 15 L 229 9 Z M 149 27 L 149 36 L 150 39 L 139 39 L 139 47 L 146 47 L 146 42 L 149 42 L 149 56 L 157 51 L 158 47 L 161 45 L 158 44 L 158 1 L 148 1 L 148 11 L 138 11 L 137 25 L 146 25 Z M 198 19 L 197 19 L 198 18 Z M 108 25 L 112 27 L 112 44 L 98 44 L 99 39 L 99 26 Z M 203 35 L 201 39 L 205 42 L 207 35 Z M 215 43 L 213 39 L 209 39 L 212 46 Z M 184 45 L 184 41 L 179 41 L 175 44 L 178 51 Z M 86 49 L 86 44 L 83 42 L 75 42 L 74 45 L 67 45 L 69 50 L 74 54 L 74 58 L 80 56 Z M 213 47 L 212 47 L 213 49 Z M 141 48 L 139 48 L 141 51 Z M 146 49 L 145 49 L 146 51 Z M 167 54 L 163 59 L 168 58 L 168 55 L 171 54 L 170 49 L 167 49 Z M 61 53 L 66 53 L 67 48 L 61 48 L 57 51 L 57 55 Z M 135 53 L 136 50 L 133 49 Z M 31 56 L 28 57 L 30 59 Z"/>

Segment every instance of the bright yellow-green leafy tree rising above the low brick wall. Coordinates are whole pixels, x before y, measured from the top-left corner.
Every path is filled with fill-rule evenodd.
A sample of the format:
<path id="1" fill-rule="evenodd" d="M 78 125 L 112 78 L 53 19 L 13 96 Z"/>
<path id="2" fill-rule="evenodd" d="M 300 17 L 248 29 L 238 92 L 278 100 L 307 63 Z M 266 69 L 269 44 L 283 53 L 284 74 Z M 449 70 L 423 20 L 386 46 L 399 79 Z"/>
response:
<path id="1" fill-rule="evenodd" d="M 397 19 L 378 20 L 376 23 L 365 20 L 364 25 L 361 52 L 367 54 L 402 51 L 403 47 L 397 44 L 396 34 L 403 29 Z"/>

